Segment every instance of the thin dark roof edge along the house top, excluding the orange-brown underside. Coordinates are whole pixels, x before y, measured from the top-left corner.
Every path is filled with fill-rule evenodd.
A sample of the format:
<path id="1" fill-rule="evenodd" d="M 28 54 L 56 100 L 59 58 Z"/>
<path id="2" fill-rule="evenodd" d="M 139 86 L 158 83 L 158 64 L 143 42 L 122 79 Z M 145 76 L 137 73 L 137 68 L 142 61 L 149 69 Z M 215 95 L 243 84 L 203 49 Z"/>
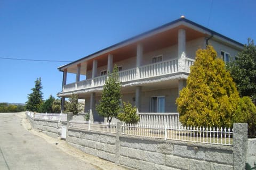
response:
<path id="1" fill-rule="evenodd" d="M 114 45 L 109 46 L 109 47 L 107 47 L 107 48 L 101 49 L 101 50 L 99 50 L 98 52 L 95 52 L 95 53 L 93 53 L 93 54 L 90 54 L 90 55 L 88 55 L 88 56 L 85 56 L 85 57 L 83 57 L 83 58 L 80 58 L 79 60 L 76 60 L 76 61 L 74 61 L 74 62 L 68 63 L 68 64 L 66 64 L 66 65 L 62 65 L 62 66 L 58 67 L 58 69 L 59 69 L 60 71 L 62 71 L 63 68 L 66 68 L 66 67 L 68 67 L 69 65 L 73 65 L 73 64 L 75 64 L 75 63 L 79 63 L 79 62 L 81 62 L 81 61 L 83 61 L 83 60 L 86 60 L 87 58 L 90 58 L 90 57 L 95 56 L 95 55 L 97 55 L 97 54 L 101 54 L 101 53 L 103 53 L 103 52 L 106 52 L 106 53 L 107 53 L 110 49 L 113 49 L 113 48 L 118 48 L 119 46 L 129 45 L 129 44 L 131 44 L 131 43 L 134 43 L 134 41 L 139 41 L 139 40 L 142 39 L 142 38 L 149 37 L 149 36 L 150 36 L 152 33 L 154 33 L 154 32 L 158 32 L 158 31 L 161 31 L 161 30 L 169 29 L 170 26 L 178 27 L 179 25 L 186 25 L 186 24 L 188 24 L 190 27 L 193 27 L 193 26 L 194 26 L 194 27 L 196 27 L 197 29 L 204 30 L 206 34 L 210 35 L 210 37 L 212 37 L 212 36 L 218 36 L 218 37 L 223 38 L 223 39 L 229 41 L 230 43 L 233 43 L 234 45 L 239 46 L 239 47 L 241 47 L 241 48 L 243 48 L 243 46 L 244 46 L 243 44 L 241 44 L 241 43 L 239 43 L 239 42 L 237 42 L 237 41 L 235 41 L 235 40 L 233 40 L 233 39 L 231 39 L 231 38 L 228 38 L 228 37 L 226 37 L 226 36 L 223 36 L 223 35 L 221 35 L 220 33 L 215 32 L 215 31 L 213 31 L 213 30 L 211 30 L 211 29 L 209 29 L 209 28 L 206 28 L 206 27 L 204 27 L 204 26 L 202 26 L 202 25 L 199 25 L 199 24 L 197 24 L 197 23 L 195 23 L 195 22 L 193 22 L 193 21 L 190 21 L 190 20 L 188 20 L 188 19 L 186 19 L 186 18 L 180 18 L 180 19 L 178 19 L 178 20 L 174 20 L 174 21 L 172 21 L 172 22 L 169 22 L 169 23 L 167 23 L 167 24 L 164 24 L 164 25 L 162 25 L 162 26 L 160 26 L 160 27 L 157 27 L 157 28 L 155 28 L 155 29 L 151 29 L 151 30 L 149 30 L 149 31 L 143 32 L 143 33 L 141 33 L 141 34 L 139 34 L 139 35 L 137 35 L 137 36 L 134 36 L 134 37 L 132 37 L 132 38 L 126 39 L 126 40 L 124 40 L 124 41 L 121 41 L 120 43 L 117 43 L 117 44 L 114 44 Z"/>

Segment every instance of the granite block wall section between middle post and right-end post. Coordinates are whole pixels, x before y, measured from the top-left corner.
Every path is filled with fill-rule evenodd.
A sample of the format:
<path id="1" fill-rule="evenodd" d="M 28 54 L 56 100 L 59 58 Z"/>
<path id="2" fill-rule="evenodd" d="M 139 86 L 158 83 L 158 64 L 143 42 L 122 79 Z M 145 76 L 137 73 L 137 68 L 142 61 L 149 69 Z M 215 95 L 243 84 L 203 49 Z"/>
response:
<path id="1" fill-rule="evenodd" d="M 233 169 L 233 147 L 124 136 L 121 165 L 135 169 Z"/>

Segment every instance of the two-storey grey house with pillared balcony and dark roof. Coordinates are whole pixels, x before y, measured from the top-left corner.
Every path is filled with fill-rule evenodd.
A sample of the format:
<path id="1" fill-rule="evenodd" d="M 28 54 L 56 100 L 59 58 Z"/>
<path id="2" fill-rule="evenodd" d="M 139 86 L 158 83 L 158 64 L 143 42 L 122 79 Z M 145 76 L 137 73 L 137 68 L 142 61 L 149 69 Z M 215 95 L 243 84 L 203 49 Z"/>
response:
<path id="1" fill-rule="evenodd" d="M 118 66 L 122 101 L 139 113 L 176 113 L 175 100 L 186 86 L 196 50 L 212 45 L 225 62 L 232 60 L 243 45 L 183 16 L 141 35 L 107 47 L 67 65 L 63 72 L 62 109 L 65 98 L 77 94 L 85 99 L 84 112 L 93 120 L 103 120 L 95 111 L 107 72 Z M 67 84 L 69 74 L 74 82 Z M 82 80 L 81 78 L 85 78 Z"/>

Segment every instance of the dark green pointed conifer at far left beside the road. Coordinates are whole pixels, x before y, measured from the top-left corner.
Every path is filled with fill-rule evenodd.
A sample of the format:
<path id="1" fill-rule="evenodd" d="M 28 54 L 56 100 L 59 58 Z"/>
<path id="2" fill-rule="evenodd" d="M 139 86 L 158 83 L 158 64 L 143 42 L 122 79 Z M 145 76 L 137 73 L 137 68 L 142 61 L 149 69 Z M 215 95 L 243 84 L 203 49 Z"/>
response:
<path id="1" fill-rule="evenodd" d="M 38 112 L 40 106 L 43 103 L 43 89 L 41 84 L 41 78 L 37 78 L 35 81 L 35 87 L 31 89 L 33 92 L 28 95 L 28 101 L 26 102 L 26 109 L 31 112 Z"/>

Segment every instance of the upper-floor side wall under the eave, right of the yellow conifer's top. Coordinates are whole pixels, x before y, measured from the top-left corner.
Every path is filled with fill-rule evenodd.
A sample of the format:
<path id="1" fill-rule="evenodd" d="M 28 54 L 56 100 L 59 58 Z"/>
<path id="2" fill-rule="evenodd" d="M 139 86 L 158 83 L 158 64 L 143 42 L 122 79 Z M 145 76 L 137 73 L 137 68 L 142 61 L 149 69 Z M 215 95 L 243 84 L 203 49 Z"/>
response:
<path id="1" fill-rule="evenodd" d="M 221 44 L 217 41 L 214 41 L 212 39 L 209 40 L 209 45 L 212 45 L 213 48 L 216 50 L 218 56 L 220 57 L 220 52 L 224 51 L 230 54 L 231 58 L 230 60 L 234 60 L 234 57 L 237 55 L 237 53 L 239 52 L 239 50 L 236 50 L 234 48 L 231 48 L 227 45 Z"/>

